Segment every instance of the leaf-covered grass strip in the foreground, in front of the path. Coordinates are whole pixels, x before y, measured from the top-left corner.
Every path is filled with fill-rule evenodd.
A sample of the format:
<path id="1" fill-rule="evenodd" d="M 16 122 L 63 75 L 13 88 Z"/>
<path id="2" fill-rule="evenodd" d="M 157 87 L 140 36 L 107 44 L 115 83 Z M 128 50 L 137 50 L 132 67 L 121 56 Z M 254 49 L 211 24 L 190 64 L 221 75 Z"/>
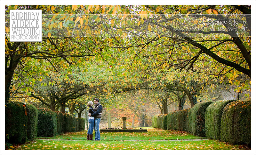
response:
<path id="1" fill-rule="evenodd" d="M 15 150 L 245 150 L 217 140 L 199 141 L 83 141 L 36 140 Z"/>

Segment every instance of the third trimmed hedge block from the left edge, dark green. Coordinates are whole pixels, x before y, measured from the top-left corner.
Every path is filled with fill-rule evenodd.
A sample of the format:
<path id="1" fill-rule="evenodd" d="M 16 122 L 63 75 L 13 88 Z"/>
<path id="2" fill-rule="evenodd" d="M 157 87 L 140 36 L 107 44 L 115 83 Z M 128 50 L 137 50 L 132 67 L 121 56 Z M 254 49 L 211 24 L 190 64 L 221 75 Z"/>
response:
<path id="1" fill-rule="evenodd" d="M 38 137 L 53 137 L 57 134 L 57 114 L 50 109 L 38 109 Z"/>

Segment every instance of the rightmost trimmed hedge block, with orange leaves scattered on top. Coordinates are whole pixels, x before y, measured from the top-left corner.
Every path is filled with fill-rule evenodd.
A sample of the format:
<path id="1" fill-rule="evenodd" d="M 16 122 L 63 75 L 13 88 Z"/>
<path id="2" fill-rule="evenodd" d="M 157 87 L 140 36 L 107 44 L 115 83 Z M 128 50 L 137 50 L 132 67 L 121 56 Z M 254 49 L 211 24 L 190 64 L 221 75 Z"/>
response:
<path id="1" fill-rule="evenodd" d="M 222 112 L 220 139 L 251 145 L 251 100 L 228 103 Z"/>

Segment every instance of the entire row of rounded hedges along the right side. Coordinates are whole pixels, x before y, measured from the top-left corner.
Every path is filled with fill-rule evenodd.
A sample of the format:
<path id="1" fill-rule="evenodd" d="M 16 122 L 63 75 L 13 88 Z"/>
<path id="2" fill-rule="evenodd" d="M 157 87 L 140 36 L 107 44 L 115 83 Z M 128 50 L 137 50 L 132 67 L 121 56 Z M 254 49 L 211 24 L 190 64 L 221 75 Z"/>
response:
<path id="1" fill-rule="evenodd" d="M 251 145 L 251 100 L 233 101 L 201 102 L 190 109 L 171 112 L 166 116 L 166 128 Z M 155 115 L 152 120 L 154 128 L 165 128 L 164 115 Z"/>

